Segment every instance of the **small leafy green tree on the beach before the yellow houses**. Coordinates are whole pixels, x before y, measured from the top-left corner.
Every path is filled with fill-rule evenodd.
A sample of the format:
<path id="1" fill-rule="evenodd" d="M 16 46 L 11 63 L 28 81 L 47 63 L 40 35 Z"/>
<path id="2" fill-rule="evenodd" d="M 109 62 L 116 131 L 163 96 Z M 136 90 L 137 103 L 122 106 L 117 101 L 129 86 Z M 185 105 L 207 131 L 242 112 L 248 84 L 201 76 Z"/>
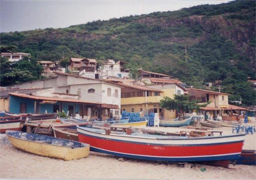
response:
<path id="1" fill-rule="evenodd" d="M 163 99 L 160 100 L 160 107 L 165 108 L 167 110 L 176 109 L 177 112 L 180 112 L 183 115 L 184 118 L 184 112 L 186 111 L 193 111 L 194 109 L 196 111 L 199 111 L 200 107 L 205 107 L 210 102 L 207 102 L 205 104 L 197 104 L 198 101 L 189 100 L 188 95 L 176 95 L 174 94 L 174 98 L 171 99 L 170 97 L 165 96 Z"/>

